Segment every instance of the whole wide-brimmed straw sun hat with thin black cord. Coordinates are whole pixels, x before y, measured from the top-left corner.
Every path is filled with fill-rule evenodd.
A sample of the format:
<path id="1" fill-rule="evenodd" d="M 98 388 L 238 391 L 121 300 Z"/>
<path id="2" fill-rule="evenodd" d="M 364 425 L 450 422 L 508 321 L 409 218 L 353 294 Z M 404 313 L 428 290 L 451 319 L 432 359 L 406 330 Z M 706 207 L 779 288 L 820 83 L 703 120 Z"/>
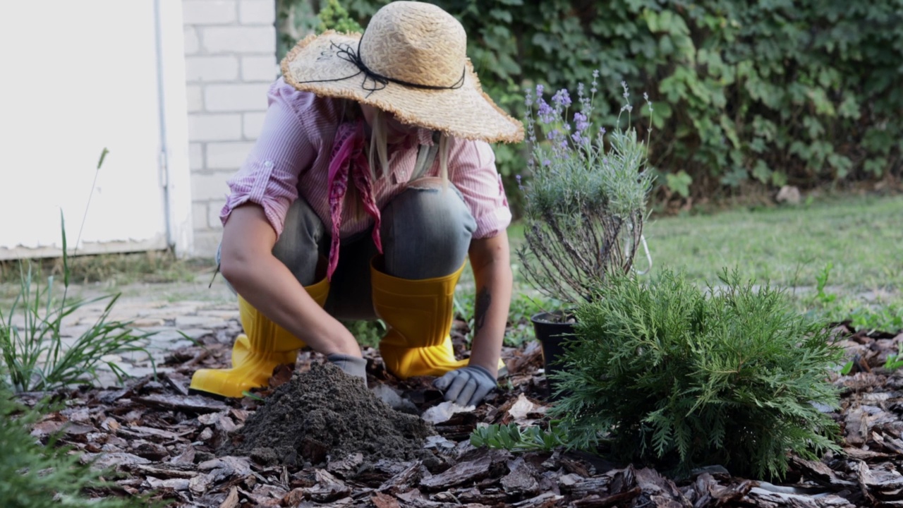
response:
<path id="1" fill-rule="evenodd" d="M 285 81 L 357 100 L 449 136 L 515 143 L 524 127 L 489 99 L 467 58 L 464 27 L 436 5 L 392 2 L 363 35 L 310 35 L 282 61 Z"/>

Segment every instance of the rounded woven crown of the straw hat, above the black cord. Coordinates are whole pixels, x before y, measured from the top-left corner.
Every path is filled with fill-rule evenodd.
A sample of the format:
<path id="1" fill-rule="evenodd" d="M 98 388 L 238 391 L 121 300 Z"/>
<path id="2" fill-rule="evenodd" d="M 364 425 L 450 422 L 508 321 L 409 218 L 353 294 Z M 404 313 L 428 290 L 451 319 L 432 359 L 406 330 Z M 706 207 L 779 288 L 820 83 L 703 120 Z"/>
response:
<path id="1" fill-rule="evenodd" d="M 359 57 L 386 78 L 429 87 L 459 83 L 467 61 L 467 33 L 452 14 L 423 2 L 392 2 L 373 14 Z"/>

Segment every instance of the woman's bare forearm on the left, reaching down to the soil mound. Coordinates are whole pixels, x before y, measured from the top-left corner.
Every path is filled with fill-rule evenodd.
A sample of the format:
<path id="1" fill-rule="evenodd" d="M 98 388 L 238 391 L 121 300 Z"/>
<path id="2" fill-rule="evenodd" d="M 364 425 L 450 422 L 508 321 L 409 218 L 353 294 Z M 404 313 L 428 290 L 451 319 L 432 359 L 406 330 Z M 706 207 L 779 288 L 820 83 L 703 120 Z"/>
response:
<path id="1" fill-rule="evenodd" d="M 360 357 L 347 328 L 327 314 L 273 256 L 276 233 L 264 209 L 245 204 L 233 210 L 223 229 L 220 271 L 239 295 L 275 324 L 323 354 Z"/>

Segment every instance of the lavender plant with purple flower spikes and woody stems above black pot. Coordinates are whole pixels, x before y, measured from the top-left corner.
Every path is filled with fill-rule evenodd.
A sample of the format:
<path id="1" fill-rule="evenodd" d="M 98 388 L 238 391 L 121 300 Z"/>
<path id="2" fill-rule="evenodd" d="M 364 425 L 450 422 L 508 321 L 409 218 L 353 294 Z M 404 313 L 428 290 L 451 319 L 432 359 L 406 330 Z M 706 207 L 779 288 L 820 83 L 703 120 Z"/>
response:
<path id="1" fill-rule="evenodd" d="M 576 105 L 567 89 L 546 102 L 542 85 L 535 96 L 528 90 L 525 101 L 531 178 L 519 182 L 526 196 L 526 243 L 517 254 L 527 282 L 571 303 L 591 300 L 610 274 L 633 268 L 652 187 L 647 144 L 636 129 L 619 127 L 625 113 L 630 125 L 627 84 L 621 83 L 625 104 L 608 132 L 593 125 L 599 71 L 592 77 L 589 95 L 578 85 Z M 579 107 L 573 114 L 572 106 Z"/>

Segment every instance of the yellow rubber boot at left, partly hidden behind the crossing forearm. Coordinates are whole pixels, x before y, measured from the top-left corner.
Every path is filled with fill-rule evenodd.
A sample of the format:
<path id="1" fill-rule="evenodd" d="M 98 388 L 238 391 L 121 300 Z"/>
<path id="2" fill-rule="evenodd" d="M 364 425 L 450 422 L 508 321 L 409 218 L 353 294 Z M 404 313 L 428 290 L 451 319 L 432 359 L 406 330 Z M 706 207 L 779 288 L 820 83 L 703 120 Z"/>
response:
<path id="1" fill-rule="evenodd" d="M 320 306 L 330 293 L 329 280 L 304 287 Z M 201 369 L 191 376 L 191 390 L 223 397 L 242 397 L 242 392 L 266 386 L 276 365 L 293 364 L 304 343 L 282 326 L 238 296 L 238 314 L 245 334 L 232 346 L 231 369 Z"/>

